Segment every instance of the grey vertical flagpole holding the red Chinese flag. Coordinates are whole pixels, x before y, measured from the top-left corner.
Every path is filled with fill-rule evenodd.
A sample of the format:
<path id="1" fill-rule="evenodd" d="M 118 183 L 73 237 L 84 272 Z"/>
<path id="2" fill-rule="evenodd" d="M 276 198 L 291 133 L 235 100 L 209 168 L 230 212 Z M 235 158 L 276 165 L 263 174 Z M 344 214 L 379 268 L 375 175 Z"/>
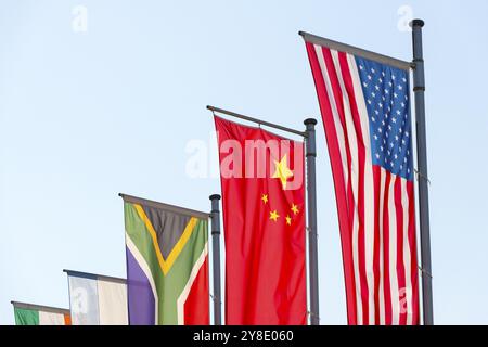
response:
<path id="1" fill-rule="evenodd" d="M 316 125 L 317 119 L 309 118 L 304 121 L 306 126 L 307 145 L 307 201 L 308 201 L 308 264 L 310 290 L 310 324 L 319 325 L 319 257 L 317 233 L 317 182 L 316 182 Z"/>

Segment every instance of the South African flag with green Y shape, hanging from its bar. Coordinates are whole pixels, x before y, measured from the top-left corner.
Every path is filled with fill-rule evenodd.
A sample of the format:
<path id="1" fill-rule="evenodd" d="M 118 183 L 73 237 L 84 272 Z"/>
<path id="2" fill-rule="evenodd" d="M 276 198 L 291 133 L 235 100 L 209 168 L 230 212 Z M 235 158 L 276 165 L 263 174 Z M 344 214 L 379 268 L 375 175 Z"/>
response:
<path id="1" fill-rule="evenodd" d="M 209 214 L 120 196 L 129 324 L 208 324 Z"/>

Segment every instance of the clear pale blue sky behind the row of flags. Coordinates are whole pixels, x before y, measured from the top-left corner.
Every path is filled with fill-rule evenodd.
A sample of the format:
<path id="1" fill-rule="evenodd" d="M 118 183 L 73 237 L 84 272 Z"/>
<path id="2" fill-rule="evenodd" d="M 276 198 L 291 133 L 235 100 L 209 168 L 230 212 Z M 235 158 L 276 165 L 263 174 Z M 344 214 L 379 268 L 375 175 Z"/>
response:
<path id="1" fill-rule="evenodd" d="M 219 180 L 185 174 L 187 144 L 214 128 L 205 105 L 295 128 L 319 117 L 299 29 L 410 60 L 401 5 L 426 22 L 435 320 L 487 324 L 485 0 L 0 0 L 0 324 L 11 299 L 67 307 L 64 268 L 125 277 L 118 192 L 209 209 Z M 321 317 L 344 324 L 318 138 Z"/>

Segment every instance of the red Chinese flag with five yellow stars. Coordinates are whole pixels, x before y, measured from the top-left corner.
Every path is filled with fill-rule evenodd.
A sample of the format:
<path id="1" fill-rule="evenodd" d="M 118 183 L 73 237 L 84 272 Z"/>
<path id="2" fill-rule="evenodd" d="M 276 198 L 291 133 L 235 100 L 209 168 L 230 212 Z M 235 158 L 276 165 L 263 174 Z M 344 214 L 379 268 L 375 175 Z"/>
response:
<path id="1" fill-rule="evenodd" d="M 226 322 L 307 322 L 304 145 L 215 117 L 226 241 Z"/>

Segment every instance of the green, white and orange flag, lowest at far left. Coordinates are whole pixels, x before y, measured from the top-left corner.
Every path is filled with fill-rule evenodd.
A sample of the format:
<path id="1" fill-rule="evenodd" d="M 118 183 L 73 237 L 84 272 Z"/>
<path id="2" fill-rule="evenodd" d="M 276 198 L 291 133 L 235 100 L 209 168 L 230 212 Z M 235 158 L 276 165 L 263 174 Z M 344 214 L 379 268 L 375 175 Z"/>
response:
<path id="1" fill-rule="evenodd" d="M 12 301 L 15 325 L 70 325 L 69 310 Z"/>

